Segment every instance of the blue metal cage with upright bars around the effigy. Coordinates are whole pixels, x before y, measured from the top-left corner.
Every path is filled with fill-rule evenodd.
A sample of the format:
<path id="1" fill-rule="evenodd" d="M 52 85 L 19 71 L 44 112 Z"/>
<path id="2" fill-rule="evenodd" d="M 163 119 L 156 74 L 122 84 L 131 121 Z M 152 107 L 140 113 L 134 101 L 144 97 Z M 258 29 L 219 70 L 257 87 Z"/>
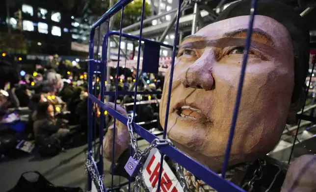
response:
<path id="1" fill-rule="evenodd" d="M 143 0 L 142 4 L 142 14 L 141 14 L 141 22 L 140 22 L 140 33 L 139 36 L 132 36 L 126 33 L 122 32 L 122 21 L 124 19 L 124 7 L 128 5 L 128 3 L 132 2 L 132 0 L 119 0 L 116 4 L 114 4 L 113 7 L 111 7 L 95 24 L 92 25 L 91 33 L 90 33 L 90 46 L 89 46 L 89 62 L 88 62 L 88 127 L 90 127 L 89 132 L 88 132 L 88 153 L 87 153 L 87 159 L 88 161 L 91 162 L 97 162 L 93 164 L 94 166 L 91 166 L 91 164 L 87 164 L 87 166 L 90 166 L 90 171 L 97 173 L 95 175 L 91 175 L 90 173 L 88 174 L 88 191 L 91 190 L 91 182 L 92 180 L 94 182 L 99 182 L 100 187 L 102 186 L 103 191 L 112 191 L 113 190 L 113 175 L 111 179 L 111 189 L 106 189 L 105 186 L 102 183 L 102 175 L 103 175 L 103 157 L 102 154 L 98 152 L 95 148 L 95 132 L 92 131 L 92 129 L 96 127 L 95 123 L 95 107 L 98 105 L 100 107 L 100 127 L 99 127 L 99 141 L 100 141 L 100 147 L 102 148 L 102 141 L 103 141 L 103 130 L 104 130 L 104 124 L 105 124 L 105 115 L 104 112 L 107 111 L 108 114 L 110 114 L 112 117 L 114 117 L 114 122 L 115 120 L 121 121 L 123 124 L 128 123 L 128 118 L 124 117 L 120 113 L 116 111 L 117 108 L 117 96 L 118 95 L 133 95 L 134 98 L 136 98 L 137 95 L 139 94 L 160 94 L 160 92 L 138 92 L 137 91 L 137 86 L 138 84 L 135 83 L 135 91 L 118 91 L 115 89 L 115 93 L 105 91 L 105 74 L 106 74 L 106 69 L 107 69 L 107 47 L 108 47 L 108 38 L 112 35 L 117 35 L 119 36 L 119 48 L 118 48 L 118 61 L 117 61 L 117 73 L 119 74 L 119 66 L 120 66 L 120 50 L 121 50 L 121 41 L 122 37 L 123 38 L 129 38 L 133 40 L 138 40 L 138 51 L 137 51 L 137 69 L 136 69 L 136 79 L 135 81 L 138 82 L 139 78 L 139 69 L 140 69 L 140 52 L 141 52 L 141 41 L 145 42 L 145 44 L 149 43 L 156 46 L 163 46 L 166 48 L 171 48 L 173 51 L 172 54 L 172 64 L 170 66 L 171 68 L 171 75 L 170 75 L 170 82 L 169 82 L 169 90 L 168 90 L 168 100 L 166 104 L 166 113 L 168 114 L 169 112 L 169 105 L 170 105 L 170 97 L 171 97 L 171 86 L 172 86 L 172 77 L 173 77 L 173 72 L 174 72 L 174 63 L 175 63 L 175 54 L 176 54 L 176 49 L 177 49 L 177 36 L 178 36 L 178 27 L 179 27 L 179 19 L 181 16 L 181 6 L 182 6 L 182 0 L 179 0 L 179 5 L 178 5 L 178 12 L 177 12 L 177 17 L 176 17 L 176 23 L 175 23 L 175 38 L 174 38 L 174 46 L 170 45 L 165 45 L 159 42 L 151 41 L 148 39 L 145 39 L 142 37 L 142 28 L 143 28 L 143 21 L 144 21 L 144 6 L 145 6 L 145 0 Z M 238 107 L 239 107 L 239 102 L 241 98 L 241 92 L 242 92 L 242 86 L 243 86 L 243 80 L 244 80 L 244 74 L 245 74 L 245 69 L 246 69 L 246 64 L 247 64 L 247 57 L 248 57 L 248 50 L 250 48 L 250 43 L 251 43 L 251 34 L 252 34 L 252 28 L 253 28 L 253 23 L 254 23 L 254 16 L 256 14 L 256 5 L 257 5 L 257 0 L 252 0 L 252 5 L 251 9 L 249 10 L 250 13 L 250 20 L 249 20 L 249 27 L 247 30 L 247 39 L 245 43 L 245 53 L 243 55 L 243 62 L 241 66 L 241 73 L 240 73 L 240 78 L 239 78 L 239 84 L 238 84 L 238 90 L 237 90 L 237 96 L 236 96 L 236 105 L 232 117 L 232 123 L 231 123 L 231 129 L 230 129 L 230 135 L 228 138 L 227 142 L 227 148 L 226 148 L 226 154 L 225 154 L 225 159 L 224 159 L 224 164 L 222 168 L 222 174 L 219 176 L 215 172 L 211 171 L 209 168 L 206 168 L 199 162 L 189 158 L 186 156 L 184 153 L 173 147 L 172 145 L 161 145 L 158 146 L 158 150 L 163 154 L 167 155 L 170 157 L 172 160 L 176 161 L 179 165 L 183 166 L 186 168 L 188 171 L 190 171 L 193 175 L 196 177 L 200 178 L 203 180 L 205 183 L 210 185 L 213 189 L 215 189 L 218 192 L 244 192 L 243 189 L 239 188 L 235 184 L 227 181 L 224 179 L 227 167 L 228 167 L 228 160 L 230 157 L 230 151 L 231 151 L 231 146 L 232 146 L 232 140 L 234 137 L 234 130 L 235 130 L 235 125 L 237 121 L 237 115 L 238 115 Z M 119 31 L 109 31 L 109 21 L 110 18 L 116 14 L 117 12 L 121 11 L 121 27 Z M 107 24 L 107 32 L 103 36 L 103 40 L 101 42 L 100 40 L 100 27 L 102 24 Z M 94 52 L 95 49 L 95 39 L 97 39 L 97 52 Z M 102 54 L 101 58 L 99 56 L 99 46 L 102 46 Z M 144 65 L 144 64 L 143 64 Z M 146 63 L 145 63 L 146 65 Z M 149 65 L 149 64 L 148 64 Z M 313 67 L 314 69 L 314 67 Z M 96 77 L 96 75 L 101 75 L 100 81 L 101 83 L 101 89 L 100 92 L 103 93 L 101 94 L 100 98 L 98 98 L 98 94 L 96 94 L 96 89 L 94 88 L 93 85 L 93 79 Z M 96 79 L 96 78 L 95 78 Z M 118 86 L 118 75 L 116 76 L 116 81 L 115 85 L 116 87 Z M 115 105 L 114 108 L 109 107 L 106 103 L 104 103 L 105 96 L 106 95 L 114 95 L 115 96 Z M 134 99 L 134 104 L 133 104 L 133 116 L 135 117 L 135 107 L 136 107 L 136 99 Z M 304 110 L 304 108 L 303 108 Z M 166 133 L 167 133 L 167 123 L 168 123 L 168 116 L 166 116 L 165 119 L 165 124 L 164 124 L 164 129 L 163 129 L 163 139 L 166 139 Z M 152 143 L 155 139 L 158 139 L 157 136 L 153 135 L 140 125 L 136 123 L 132 123 L 132 131 L 139 136 L 141 136 L 144 140 L 146 140 L 148 143 Z M 115 132 L 115 123 L 114 123 L 114 132 Z M 115 133 L 114 133 L 115 135 Z M 113 135 L 113 138 L 114 138 Z M 115 139 L 115 138 L 114 138 Z M 113 139 L 113 140 L 114 140 Z M 94 147 L 94 150 L 93 150 Z M 114 143 L 113 143 L 113 148 L 114 148 Z M 94 151 L 94 154 L 93 152 Z M 114 151 L 114 150 L 113 150 Z M 161 174 L 162 174 L 162 163 L 163 163 L 163 155 L 161 155 L 161 160 L 160 160 L 160 169 L 159 169 L 159 178 L 158 178 L 158 192 L 160 190 L 160 183 L 161 183 Z M 131 151 L 131 156 L 133 156 L 132 151 Z M 114 155 L 113 155 L 114 158 Z M 97 161 L 98 159 L 98 161 Z M 89 170 L 88 168 L 88 170 Z M 112 170 L 113 170 L 113 165 L 112 165 Z M 88 172 L 90 172 L 88 171 Z M 131 182 L 131 179 L 130 179 Z M 129 184 L 129 191 L 130 191 L 130 184 Z"/>

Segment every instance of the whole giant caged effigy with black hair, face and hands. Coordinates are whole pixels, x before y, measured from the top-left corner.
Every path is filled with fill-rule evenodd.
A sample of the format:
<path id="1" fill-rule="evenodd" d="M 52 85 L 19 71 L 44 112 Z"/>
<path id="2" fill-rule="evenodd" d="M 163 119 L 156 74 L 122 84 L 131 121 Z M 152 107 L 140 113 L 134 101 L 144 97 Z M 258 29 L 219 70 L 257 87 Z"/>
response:
<path id="1" fill-rule="evenodd" d="M 230 5 L 215 23 L 184 38 L 174 67 L 167 136 L 179 150 L 217 173 L 230 134 L 250 4 L 245 0 Z M 286 178 L 287 166 L 266 156 L 278 144 L 286 123 L 295 122 L 304 103 L 309 31 L 300 15 L 280 2 L 258 1 L 256 14 L 228 162 L 230 174 L 225 179 L 247 191 L 312 192 L 316 189 L 314 156 L 297 158 Z M 169 79 L 170 68 L 160 102 L 162 126 Z M 124 109 L 117 111 L 126 116 Z M 108 129 L 103 142 L 104 157 L 111 161 L 114 153 L 113 163 L 130 142 L 125 124 L 117 122 L 116 129 L 115 151 L 113 129 Z M 305 165 L 297 166 L 300 163 Z M 255 170 L 263 175 L 253 180 Z M 184 170 L 184 175 L 190 173 Z M 215 191 L 203 182 L 190 181 L 186 180 L 190 192 Z"/>

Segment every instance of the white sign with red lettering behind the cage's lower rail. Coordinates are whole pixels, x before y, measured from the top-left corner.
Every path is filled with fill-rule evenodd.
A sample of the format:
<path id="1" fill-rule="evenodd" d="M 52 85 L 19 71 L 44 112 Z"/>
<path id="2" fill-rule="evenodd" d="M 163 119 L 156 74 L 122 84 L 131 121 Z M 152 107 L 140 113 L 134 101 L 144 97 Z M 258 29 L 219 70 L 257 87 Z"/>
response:
<path id="1" fill-rule="evenodd" d="M 150 192 L 157 192 L 158 189 L 160 158 L 161 155 L 158 149 L 152 149 L 144 164 L 143 177 L 145 185 Z M 176 175 L 164 160 L 162 164 L 160 192 L 183 192 Z"/>

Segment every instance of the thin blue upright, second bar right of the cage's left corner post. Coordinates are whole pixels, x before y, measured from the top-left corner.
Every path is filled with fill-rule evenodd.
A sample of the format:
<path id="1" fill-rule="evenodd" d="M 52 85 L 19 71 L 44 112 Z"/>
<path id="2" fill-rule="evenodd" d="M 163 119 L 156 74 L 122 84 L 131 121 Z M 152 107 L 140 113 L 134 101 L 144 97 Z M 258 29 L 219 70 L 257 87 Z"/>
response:
<path id="1" fill-rule="evenodd" d="M 117 85 L 119 81 L 119 66 L 120 66 L 120 56 L 121 56 L 121 42 L 122 42 L 122 28 L 123 28 L 123 18 L 124 18 L 124 7 L 122 6 L 122 14 L 121 14 L 121 26 L 120 26 L 120 37 L 119 37 L 119 48 L 118 48 L 118 56 L 117 56 L 117 67 L 116 67 L 116 81 L 115 81 L 115 98 L 114 98 L 114 110 L 116 110 L 117 105 Z M 114 173 L 114 144 L 115 144 L 115 129 L 116 129 L 116 119 L 114 117 L 114 126 L 113 126 L 113 146 L 112 146 L 112 173 Z M 112 174 L 112 182 L 111 182 L 111 190 L 113 190 L 113 178 Z"/>

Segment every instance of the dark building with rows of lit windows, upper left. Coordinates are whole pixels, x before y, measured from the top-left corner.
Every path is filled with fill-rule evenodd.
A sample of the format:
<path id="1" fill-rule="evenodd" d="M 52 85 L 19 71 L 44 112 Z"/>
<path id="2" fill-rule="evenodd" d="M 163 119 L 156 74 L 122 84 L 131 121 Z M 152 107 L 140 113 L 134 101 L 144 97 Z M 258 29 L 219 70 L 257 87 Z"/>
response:
<path id="1" fill-rule="evenodd" d="M 23 53 L 68 54 L 71 22 L 67 12 L 53 10 L 41 1 L 22 3 L 19 0 L 6 0 L 5 6 L 0 8 L 1 33 L 9 33 L 12 38 L 22 35 L 26 41 Z M 21 52 L 14 48 L 9 51 Z"/>

